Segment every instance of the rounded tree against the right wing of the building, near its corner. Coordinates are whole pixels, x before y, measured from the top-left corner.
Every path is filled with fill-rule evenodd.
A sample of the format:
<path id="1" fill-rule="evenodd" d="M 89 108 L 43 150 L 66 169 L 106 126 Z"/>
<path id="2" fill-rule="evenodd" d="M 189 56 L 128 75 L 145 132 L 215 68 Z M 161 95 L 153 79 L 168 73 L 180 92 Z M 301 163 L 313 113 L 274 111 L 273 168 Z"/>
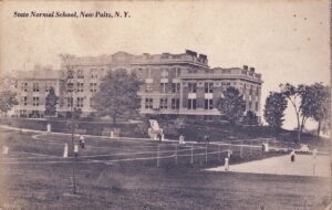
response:
<path id="1" fill-rule="evenodd" d="M 220 97 L 217 103 L 217 109 L 220 114 L 225 115 L 230 124 L 235 125 L 243 115 L 246 102 L 243 101 L 242 95 L 240 95 L 239 90 L 236 87 L 228 87 L 222 94 L 224 97 Z"/>

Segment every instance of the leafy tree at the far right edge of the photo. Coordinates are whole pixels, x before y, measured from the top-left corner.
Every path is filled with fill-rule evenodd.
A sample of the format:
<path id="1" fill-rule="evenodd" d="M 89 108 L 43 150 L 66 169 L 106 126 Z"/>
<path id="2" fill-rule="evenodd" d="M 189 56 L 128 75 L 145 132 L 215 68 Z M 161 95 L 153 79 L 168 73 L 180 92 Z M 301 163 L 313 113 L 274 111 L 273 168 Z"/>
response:
<path id="1" fill-rule="evenodd" d="M 310 86 L 302 86 L 301 94 L 301 115 L 312 118 L 318 123 L 317 138 L 320 138 L 322 124 L 329 124 L 329 87 L 321 83 Z"/>

